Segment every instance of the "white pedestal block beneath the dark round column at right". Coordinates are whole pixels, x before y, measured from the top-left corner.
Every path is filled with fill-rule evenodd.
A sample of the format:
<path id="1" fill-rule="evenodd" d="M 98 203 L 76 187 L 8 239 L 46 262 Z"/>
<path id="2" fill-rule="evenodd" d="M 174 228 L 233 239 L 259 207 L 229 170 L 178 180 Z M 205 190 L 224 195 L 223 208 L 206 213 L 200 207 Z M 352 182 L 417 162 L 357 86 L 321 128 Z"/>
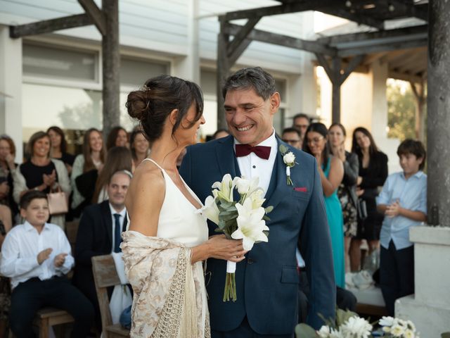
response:
<path id="1" fill-rule="evenodd" d="M 413 227 L 409 238 L 416 293 L 397 299 L 395 316 L 412 320 L 420 337 L 441 337 L 450 331 L 450 227 Z"/>

